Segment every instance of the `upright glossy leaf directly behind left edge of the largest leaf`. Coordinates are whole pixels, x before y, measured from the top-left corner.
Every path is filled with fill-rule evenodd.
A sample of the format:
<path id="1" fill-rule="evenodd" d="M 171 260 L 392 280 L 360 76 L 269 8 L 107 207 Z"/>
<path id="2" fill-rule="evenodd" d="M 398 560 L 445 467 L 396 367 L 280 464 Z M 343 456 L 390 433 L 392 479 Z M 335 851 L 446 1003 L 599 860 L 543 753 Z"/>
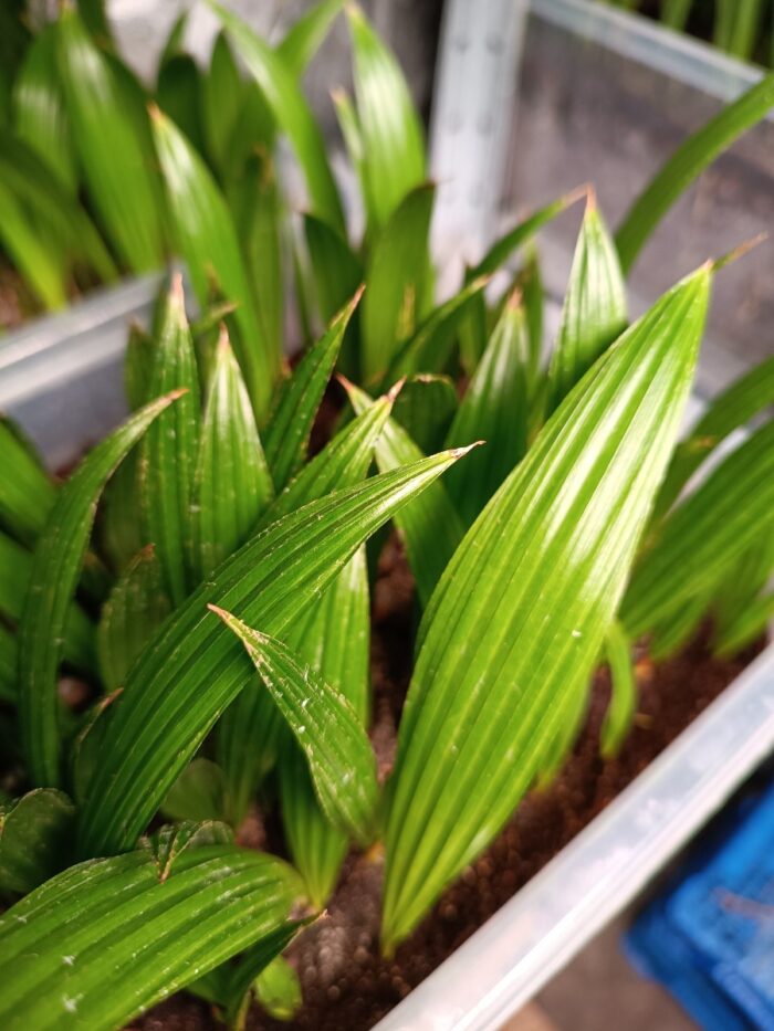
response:
<path id="1" fill-rule="evenodd" d="M 450 444 L 484 441 L 446 487 L 467 526 L 526 451 L 529 343 L 519 294 L 505 303 L 487 350 L 447 436 Z"/>

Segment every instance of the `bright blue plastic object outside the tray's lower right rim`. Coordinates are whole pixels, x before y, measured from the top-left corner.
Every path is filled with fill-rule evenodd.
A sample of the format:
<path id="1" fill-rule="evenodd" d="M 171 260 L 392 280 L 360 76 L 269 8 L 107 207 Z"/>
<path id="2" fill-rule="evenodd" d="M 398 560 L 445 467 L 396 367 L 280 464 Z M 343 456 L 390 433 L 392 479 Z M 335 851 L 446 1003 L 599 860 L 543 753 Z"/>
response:
<path id="1" fill-rule="evenodd" d="M 774 787 L 700 844 L 626 949 L 707 1031 L 774 1031 Z"/>

